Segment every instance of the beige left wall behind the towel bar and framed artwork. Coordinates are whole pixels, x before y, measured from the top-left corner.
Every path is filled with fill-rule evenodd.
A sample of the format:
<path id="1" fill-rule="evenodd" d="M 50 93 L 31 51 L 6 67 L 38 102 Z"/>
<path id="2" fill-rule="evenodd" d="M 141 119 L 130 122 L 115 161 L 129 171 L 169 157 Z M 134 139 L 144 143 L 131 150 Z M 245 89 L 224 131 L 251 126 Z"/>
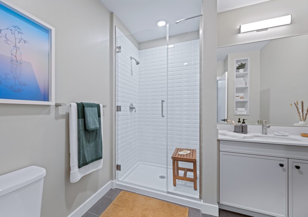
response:
<path id="1" fill-rule="evenodd" d="M 42 217 L 67 216 L 112 179 L 110 12 L 99 0 L 10 0 L 55 27 L 55 99 L 103 109 L 103 168 L 70 183 L 68 107 L 0 106 L 0 175 L 30 165 L 47 170 Z"/>

